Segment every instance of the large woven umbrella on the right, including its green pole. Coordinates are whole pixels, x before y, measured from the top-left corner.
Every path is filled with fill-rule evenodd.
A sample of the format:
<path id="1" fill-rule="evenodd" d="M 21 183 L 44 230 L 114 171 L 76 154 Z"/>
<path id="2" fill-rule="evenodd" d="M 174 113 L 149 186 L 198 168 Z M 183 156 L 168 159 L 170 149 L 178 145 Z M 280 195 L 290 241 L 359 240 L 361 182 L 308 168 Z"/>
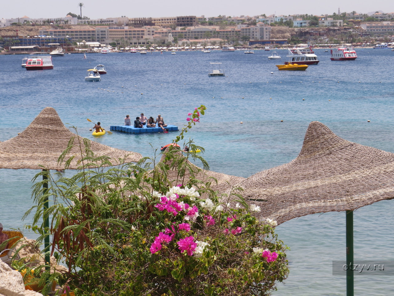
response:
<path id="1" fill-rule="evenodd" d="M 245 199 L 262 218 L 283 223 L 309 214 L 346 211 L 346 260 L 353 262 L 353 210 L 394 198 L 394 154 L 346 141 L 311 122 L 296 159 L 243 180 Z M 353 271 L 347 270 L 347 295 Z"/>

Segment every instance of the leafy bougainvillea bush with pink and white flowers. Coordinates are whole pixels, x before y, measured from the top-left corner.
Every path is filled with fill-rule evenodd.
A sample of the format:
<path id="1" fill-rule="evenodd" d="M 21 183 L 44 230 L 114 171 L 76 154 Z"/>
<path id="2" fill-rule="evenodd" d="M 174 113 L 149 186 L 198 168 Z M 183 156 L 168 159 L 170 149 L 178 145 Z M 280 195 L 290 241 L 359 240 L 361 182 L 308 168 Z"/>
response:
<path id="1" fill-rule="evenodd" d="M 186 129 L 204 109 L 188 115 Z M 267 295 L 287 277 L 276 222 L 256 219 L 253 202 L 213 192 L 184 171 L 182 183 L 170 184 L 171 166 L 155 157 L 108 169 L 107 159 L 84 149 L 85 163 L 97 169 L 82 164 L 71 178 L 49 175 L 47 193 L 35 185 L 35 222 L 53 217 L 50 251 L 69 269 L 50 277 L 76 295 Z M 201 158 L 165 153 L 172 163 Z M 178 169 L 196 170 L 187 163 Z M 48 210 L 46 197 L 54 200 Z"/>

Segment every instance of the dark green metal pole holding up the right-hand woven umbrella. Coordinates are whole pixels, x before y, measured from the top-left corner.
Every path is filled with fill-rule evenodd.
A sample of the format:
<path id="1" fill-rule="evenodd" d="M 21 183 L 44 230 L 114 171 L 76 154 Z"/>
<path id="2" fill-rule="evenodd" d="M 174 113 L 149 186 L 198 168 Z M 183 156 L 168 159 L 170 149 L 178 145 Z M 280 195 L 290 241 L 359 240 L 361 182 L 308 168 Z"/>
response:
<path id="1" fill-rule="evenodd" d="M 353 211 L 346 210 L 346 296 L 354 296 Z"/>

